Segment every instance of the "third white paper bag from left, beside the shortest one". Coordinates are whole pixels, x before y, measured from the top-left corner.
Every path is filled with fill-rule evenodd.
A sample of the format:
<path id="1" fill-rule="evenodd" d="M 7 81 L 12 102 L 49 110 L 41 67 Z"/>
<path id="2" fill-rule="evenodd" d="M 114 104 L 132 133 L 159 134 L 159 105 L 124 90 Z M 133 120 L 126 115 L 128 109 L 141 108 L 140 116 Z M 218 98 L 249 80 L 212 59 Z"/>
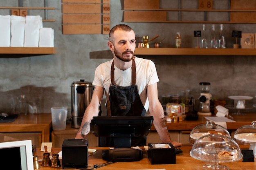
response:
<path id="1" fill-rule="evenodd" d="M 25 22 L 25 47 L 38 47 L 39 45 L 39 29 L 42 28 L 42 18 L 40 15 L 26 16 Z"/>

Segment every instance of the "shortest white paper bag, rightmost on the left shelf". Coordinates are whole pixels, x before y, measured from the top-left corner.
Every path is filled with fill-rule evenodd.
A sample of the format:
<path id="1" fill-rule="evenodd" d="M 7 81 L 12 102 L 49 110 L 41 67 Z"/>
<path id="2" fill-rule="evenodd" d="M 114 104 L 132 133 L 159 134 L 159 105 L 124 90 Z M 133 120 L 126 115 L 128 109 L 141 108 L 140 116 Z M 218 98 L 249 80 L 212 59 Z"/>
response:
<path id="1" fill-rule="evenodd" d="M 40 29 L 39 47 L 54 47 L 54 29 L 52 28 Z"/>

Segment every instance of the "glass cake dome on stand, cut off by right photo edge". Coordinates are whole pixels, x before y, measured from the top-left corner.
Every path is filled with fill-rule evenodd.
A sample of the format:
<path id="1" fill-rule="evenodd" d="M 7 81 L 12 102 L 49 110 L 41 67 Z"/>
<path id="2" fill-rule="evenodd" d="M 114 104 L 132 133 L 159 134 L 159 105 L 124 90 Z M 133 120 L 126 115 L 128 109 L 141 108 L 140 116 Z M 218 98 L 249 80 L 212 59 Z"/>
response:
<path id="1" fill-rule="evenodd" d="M 249 144 L 249 150 L 253 150 L 254 157 L 256 158 L 256 121 L 252 121 L 252 125 L 238 128 L 234 133 L 234 139 L 238 144 Z"/>

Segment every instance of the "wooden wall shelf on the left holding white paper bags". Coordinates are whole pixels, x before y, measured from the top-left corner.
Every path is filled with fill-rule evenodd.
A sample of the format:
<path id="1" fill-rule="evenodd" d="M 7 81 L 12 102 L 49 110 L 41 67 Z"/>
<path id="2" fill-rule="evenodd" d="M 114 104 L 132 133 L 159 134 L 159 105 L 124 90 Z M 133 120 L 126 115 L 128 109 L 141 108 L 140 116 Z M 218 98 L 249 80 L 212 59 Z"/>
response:
<path id="1" fill-rule="evenodd" d="M 0 47 L 0 57 L 27 57 L 56 54 L 54 47 Z"/>

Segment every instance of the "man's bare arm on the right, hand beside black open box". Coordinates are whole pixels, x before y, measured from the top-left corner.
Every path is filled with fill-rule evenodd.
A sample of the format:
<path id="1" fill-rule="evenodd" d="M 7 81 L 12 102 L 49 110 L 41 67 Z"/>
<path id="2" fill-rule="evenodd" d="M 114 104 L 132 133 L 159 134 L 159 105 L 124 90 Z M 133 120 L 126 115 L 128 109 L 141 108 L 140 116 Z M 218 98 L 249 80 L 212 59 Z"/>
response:
<path id="1" fill-rule="evenodd" d="M 168 129 L 165 124 L 164 109 L 158 99 L 157 83 L 149 85 L 147 93 L 149 101 L 149 113 L 154 117 L 153 124 L 161 141 L 163 143 L 172 143 L 174 147 L 182 146 L 182 144 L 176 141 L 171 141 Z"/>

